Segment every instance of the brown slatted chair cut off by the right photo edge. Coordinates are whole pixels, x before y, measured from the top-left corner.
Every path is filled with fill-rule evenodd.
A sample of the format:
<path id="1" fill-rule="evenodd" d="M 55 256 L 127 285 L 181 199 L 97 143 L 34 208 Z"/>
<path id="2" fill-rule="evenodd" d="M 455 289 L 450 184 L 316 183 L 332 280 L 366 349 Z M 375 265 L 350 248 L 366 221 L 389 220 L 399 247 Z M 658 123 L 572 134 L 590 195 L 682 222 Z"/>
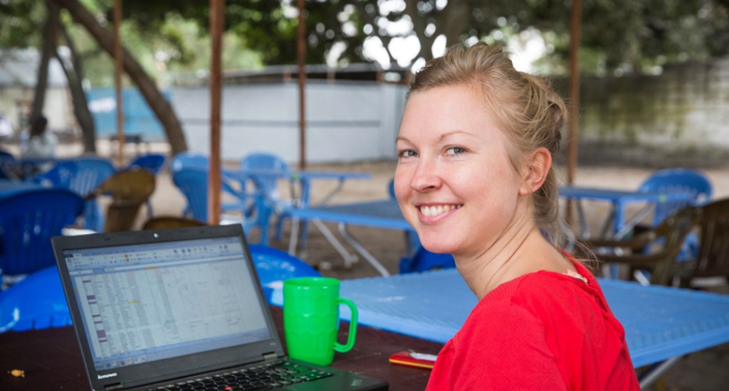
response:
<path id="1" fill-rule="evenodd" d="M 729 278 L 729 198 L 702 209 L 701 244 L 692 277 Z"/>

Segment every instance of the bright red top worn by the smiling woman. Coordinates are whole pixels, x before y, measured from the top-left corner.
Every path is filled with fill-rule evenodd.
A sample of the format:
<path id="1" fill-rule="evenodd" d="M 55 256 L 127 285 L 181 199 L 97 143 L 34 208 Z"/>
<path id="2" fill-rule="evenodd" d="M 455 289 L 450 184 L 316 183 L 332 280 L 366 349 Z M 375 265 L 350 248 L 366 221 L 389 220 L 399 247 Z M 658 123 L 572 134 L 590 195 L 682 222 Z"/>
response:
<path id="1" fill-rule="evenodd" d="M 481 300 L 438 354 L 426 391 L 640 390 L 595 277 L 523 275 Z"/>

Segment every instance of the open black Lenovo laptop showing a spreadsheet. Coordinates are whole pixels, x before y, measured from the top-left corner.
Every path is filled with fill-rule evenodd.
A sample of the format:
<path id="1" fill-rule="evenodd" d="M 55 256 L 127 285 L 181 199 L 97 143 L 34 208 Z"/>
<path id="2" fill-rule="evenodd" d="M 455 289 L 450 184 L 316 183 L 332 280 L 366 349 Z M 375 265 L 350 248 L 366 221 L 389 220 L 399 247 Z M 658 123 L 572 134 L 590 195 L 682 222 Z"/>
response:
<path id="1" fill-rule="evenodd" d="M 286 358 L 239 224 L 52 238 L 93 390 L 387 390 Z"/>

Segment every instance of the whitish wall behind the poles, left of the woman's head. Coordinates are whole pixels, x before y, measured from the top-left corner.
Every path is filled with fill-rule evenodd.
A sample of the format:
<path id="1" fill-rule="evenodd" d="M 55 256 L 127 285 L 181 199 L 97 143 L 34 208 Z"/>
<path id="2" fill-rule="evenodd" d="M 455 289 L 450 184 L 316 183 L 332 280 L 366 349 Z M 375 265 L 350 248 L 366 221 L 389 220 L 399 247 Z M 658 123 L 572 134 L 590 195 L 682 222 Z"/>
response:
<path id="1" fill-rule="evenodd" d="M 172 103 L 190 151 L 208 154 L 210 92 L 176 87 Z M 407 88 L 396 84 L 309 81 L 307 162 L 394 158 L 394 140 Z M 226 85 L 222 98 L 222 157 L 238 160 L 269 151 L 299 160 L 299 99 L 295 83 Z"/>

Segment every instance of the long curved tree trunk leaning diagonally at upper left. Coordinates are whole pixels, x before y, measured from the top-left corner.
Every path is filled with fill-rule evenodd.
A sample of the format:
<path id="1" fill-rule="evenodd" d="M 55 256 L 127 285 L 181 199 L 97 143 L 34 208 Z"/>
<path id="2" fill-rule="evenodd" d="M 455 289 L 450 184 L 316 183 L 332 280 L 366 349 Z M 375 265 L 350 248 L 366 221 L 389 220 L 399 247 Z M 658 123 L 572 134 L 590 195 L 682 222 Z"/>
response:
<path id="1" fill-rule="evenodd" d="M 99 46 L 101 46 L 106 52 L 112 57 L 114 56 L 114 36 L 111 31 L 100 25 L 96 18 L 84 7 L 78 0 L 54 0 L 58 5 L 69 10 L 71 16 L 77 23 L 83 25 L 86 30 L 94 37 Z M 172 106 L 162 96 L 155 82 L 152 78 L 144 72 L 139 63 L 124 50 L 124 70 L 133 80 L 133 82 L 139 87 L 139 92 L 147 100 L 149 108 L 160 120 L 162 126 L 165 128 L 167 134 L 167 140 L 172 147 L 172 153 L 178 154 L 182 151 L 187 151 L 187 143 L 185 143 L 184 135 L 182 133 L 182 126 L 177 119 L 177 116 L 172 110 Z"/>

